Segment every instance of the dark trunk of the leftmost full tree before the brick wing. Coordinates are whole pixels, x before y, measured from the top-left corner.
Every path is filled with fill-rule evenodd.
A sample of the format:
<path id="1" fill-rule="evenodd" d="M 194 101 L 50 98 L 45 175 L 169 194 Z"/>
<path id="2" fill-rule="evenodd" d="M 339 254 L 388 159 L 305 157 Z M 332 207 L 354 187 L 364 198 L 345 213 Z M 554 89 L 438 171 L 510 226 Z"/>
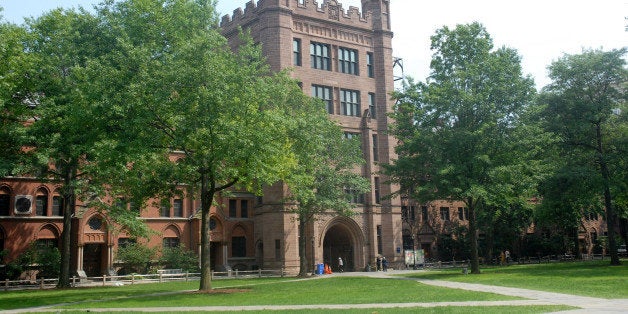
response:
<path id="1" fill-rule="evenodd" d="M 72 215 L 74 214 L 74 205 L 76 203 L 76 195 L 72 180 L 76 171 L 68 169 L 63 179 L 63 231 L 61 232 L 61 269 L 59 271 L 59 281 L 57 288 L 70 287 L 70 261 L 72 256 Z"/>

